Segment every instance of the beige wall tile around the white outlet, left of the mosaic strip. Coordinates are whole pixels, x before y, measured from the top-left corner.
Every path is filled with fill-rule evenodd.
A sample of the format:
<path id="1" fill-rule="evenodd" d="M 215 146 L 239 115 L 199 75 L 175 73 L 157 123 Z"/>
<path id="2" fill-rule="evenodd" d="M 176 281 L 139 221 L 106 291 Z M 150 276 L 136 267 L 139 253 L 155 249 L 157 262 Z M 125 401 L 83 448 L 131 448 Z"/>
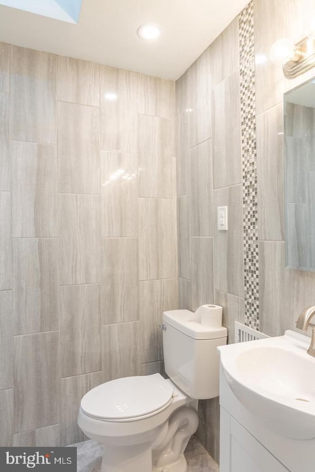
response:
<path id="1" fill-rule="evenodd" d="M 214 211 L 227 206 L 228 230 L 215 228 L 215 286 L 221 292 L 244 297 L 242 185 L 214 191 Z"/>

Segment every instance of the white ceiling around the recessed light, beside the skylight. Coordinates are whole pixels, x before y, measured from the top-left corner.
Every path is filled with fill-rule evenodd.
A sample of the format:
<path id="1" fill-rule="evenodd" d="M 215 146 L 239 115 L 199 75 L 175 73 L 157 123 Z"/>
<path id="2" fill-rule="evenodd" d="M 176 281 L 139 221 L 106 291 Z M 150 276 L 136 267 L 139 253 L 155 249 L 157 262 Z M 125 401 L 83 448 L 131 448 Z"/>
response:
<path id="1" fill-rule="evenodd" d="M 78 25 L 0 5 L 0 41 L 177 79 L 248 0 L 83 0 Z M 161 27 L 140 39 L 144 23 Z"/>

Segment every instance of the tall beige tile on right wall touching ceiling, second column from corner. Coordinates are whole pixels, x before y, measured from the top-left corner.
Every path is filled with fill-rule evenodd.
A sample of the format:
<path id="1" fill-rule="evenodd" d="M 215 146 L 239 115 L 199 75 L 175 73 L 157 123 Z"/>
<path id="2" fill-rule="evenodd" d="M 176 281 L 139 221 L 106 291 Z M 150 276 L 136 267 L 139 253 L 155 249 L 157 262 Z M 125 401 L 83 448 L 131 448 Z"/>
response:
<path id="1" fill-rule="evenodd" d="M 211 138 L 210 48 L 189 67 L 189 146 Z"/>

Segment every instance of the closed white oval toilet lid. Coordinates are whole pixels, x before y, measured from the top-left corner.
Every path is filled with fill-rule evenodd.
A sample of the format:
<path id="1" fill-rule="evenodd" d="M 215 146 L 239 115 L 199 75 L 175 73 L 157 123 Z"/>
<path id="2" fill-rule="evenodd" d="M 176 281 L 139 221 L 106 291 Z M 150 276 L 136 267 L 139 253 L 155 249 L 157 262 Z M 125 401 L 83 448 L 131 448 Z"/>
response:
<path id="1" fill-rule="evenodd" d="M 160 374 L 125 377 L 90 390 L 82 398 L 81 408 L 94 418 L 121 421 L 166 408 L 172 395 L 172 384 Z"/>

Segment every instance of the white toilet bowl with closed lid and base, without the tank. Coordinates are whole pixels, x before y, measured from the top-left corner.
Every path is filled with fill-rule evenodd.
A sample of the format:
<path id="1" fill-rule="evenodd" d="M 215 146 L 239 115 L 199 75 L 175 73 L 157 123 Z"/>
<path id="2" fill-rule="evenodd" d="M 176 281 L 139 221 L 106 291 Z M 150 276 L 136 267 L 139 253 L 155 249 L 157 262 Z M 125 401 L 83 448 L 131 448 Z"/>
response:
<path id="1" fill-rule="evenodd" d="M 101 472 L 187 472 L 197 406 L 160 374 L 125 377 L 83 397 L 78 425 L 104 446 Z"/>

